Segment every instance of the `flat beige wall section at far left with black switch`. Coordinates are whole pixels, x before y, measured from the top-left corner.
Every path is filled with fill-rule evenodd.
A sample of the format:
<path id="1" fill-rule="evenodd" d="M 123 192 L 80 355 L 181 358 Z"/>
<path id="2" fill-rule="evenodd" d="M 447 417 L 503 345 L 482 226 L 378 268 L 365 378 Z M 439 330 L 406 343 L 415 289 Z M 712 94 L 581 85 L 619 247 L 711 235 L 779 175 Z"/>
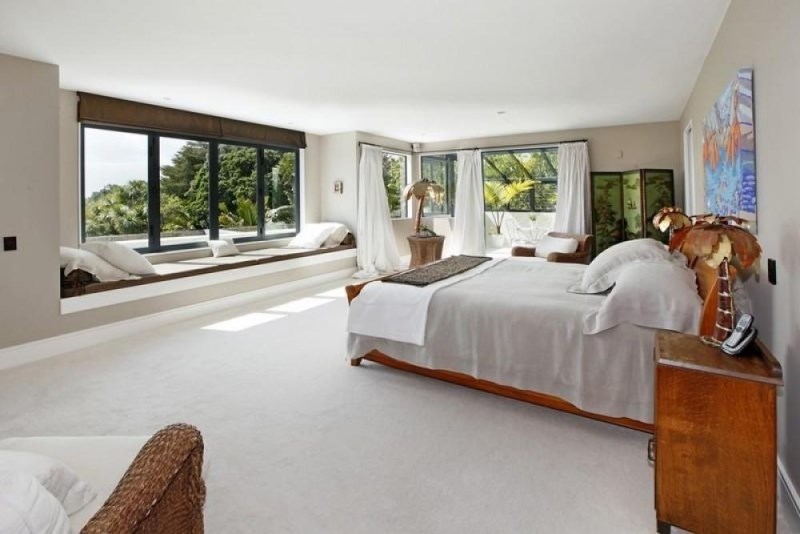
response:
<path id="1" fill-rule="evenodd" d="M 58 67 L 0 55 L 0 347 L 58 321 Z"/>

